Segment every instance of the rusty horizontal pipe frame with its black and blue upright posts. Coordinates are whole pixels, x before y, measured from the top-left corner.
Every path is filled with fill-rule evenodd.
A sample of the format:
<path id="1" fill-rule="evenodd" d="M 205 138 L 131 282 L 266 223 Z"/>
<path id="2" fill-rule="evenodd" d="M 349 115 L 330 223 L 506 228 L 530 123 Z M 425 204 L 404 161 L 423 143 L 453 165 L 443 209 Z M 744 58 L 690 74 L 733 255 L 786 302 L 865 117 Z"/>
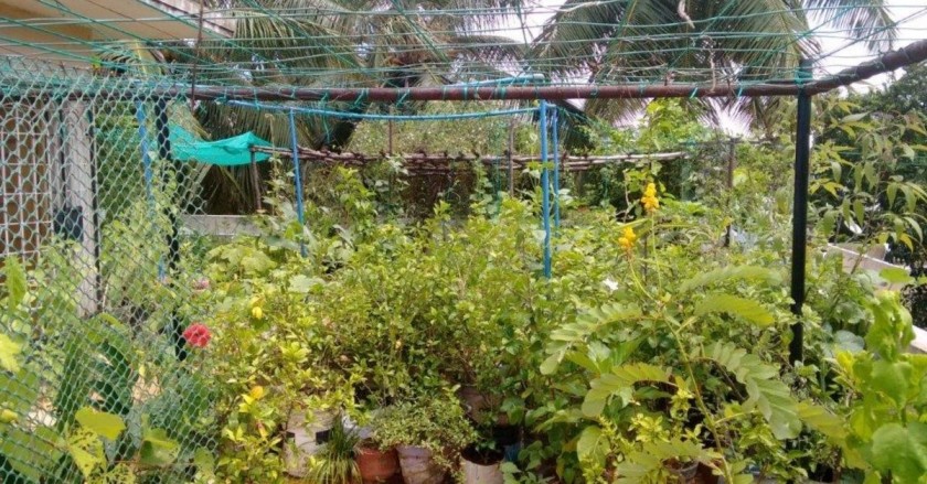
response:
<path id="1" fill-rule="evenodd" d="M 562 99 L 642 99 L 642 98 L 740 98 L 767 96 L 796 96 L 798 99 L 796 128 L 796 159 L 795 159 L 795 200 L 792 205 L 792 248 L 791 248 L 791 311 L 798 318 L 792 325 L 792 341 L 789 345 L 789 357 L 795 364 L 803 359 L 803 323 L 801 322 L 805 305 L 805 277 L 808 250 L 808 184 L 809 158 L 811 141 L 811 99 L 817 94 L 828 93 L 839 87 L 869 79 L 878 74 L 888 73 L 910 64 L 927 60 L 927 40 L 909 44 L 906 47 L 886 53 L 875 60 L 850 67 L 840 73 L 814 80 L 811 63 L 802 60 L 795 79 L 781 83 L 744 84 L 663 84 L 663 85 L 609 85 L 609 86 L 466 86 L 452 85 L 443 87 L 405 87 L 405 88 L 243 88 L 225 86 L 171 86 L 154 88 L 162 97 L 185 97 L 192 99 L 216 101 L 352 101 L 352 103 L 394 103 L 405 101 L 480 101 L 480 100 L 540 100 L 539 112 L 541 131 L 547 131 L 547 101 Z M 150 95 L 151 93 L 147 93 Z M 25 93 L 29 96 L 30 93 Z M 81 97 L 84 94 L 73 94 Z M 286 107 L 281 106 L 283 110 Z M 554 111 L 554 116 L 555 116 Z M 294 110 L 289 110 L 290 129 L 294 130 Z M 556 131 L 554 131 L 556 133 Z M 299 147 L 296 146 L 296 133 L 291 137 L 291 158 L 299 174 Z M 547 139 L 542 136 L 542 161 L 546 162 Z M 555 153 L 556 155 L 556 153 Z M 543 175 L 546 176 L 547 170 Z M 556 176 L 556 174 L 555 174 Z M 545 182 L 544 186 L 546 186 Z M 301 193 L 297 191 L 297 196 Z M 546 197 L 544 198 L 547 202 Z M 557 207 L 558 208 L 558 207 Z M 548 211 L 545 204 L 544 211 Z M 302 214 L 300 213 L 300 222 Z M 545 218 L 545 224 L 550 222 Z M 550 227 L 545 227 L 550 234 Z M 550 239 L 545 240 L 545 273 L 550 273 Z"/>

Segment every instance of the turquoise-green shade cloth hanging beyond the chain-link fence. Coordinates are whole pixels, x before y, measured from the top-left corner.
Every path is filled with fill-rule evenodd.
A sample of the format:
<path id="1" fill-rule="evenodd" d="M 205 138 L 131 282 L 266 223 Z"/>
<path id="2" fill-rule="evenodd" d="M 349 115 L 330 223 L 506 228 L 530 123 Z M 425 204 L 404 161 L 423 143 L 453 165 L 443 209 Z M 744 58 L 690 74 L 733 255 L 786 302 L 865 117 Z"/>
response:
<path id="1" fill-rule="evenodd" d="M 171 125 L 171 154 L 174 160 L 195 161 L 220 166 L 251 164 L 251 147 L 271 147 L 269 142 L 248 131 L 219 141 L 203 141 L 178 125 Z M 268 153 L 254 153 L 254 161 L 267 161 Z"/>

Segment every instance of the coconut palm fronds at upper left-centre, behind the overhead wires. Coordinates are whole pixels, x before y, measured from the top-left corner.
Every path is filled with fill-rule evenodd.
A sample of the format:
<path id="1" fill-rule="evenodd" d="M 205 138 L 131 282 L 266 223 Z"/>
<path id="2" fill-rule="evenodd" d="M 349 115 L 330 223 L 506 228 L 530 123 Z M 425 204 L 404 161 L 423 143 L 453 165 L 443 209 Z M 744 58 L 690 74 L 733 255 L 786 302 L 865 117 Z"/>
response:
<path id="1" fill-rule="evenodd" d="M 235 19 L 235 37 L 159 45 L 175 76 L 262 88 L 436 86 L 504 76 L 501 67 L 516 65 L 528 50 L 486 33 L 516 14 L 522 0 L 217 0 L 212 6 Z M 374 107 L 319 105 L 355 112 Z M 252 130 L 277 146 L 290 142 L 281 112 L 206 103 L 196 115 L 216 138 Z M 354 126 L 299 117 L 297 138 L 302 146 L 343 146 Z M 230 209 L 247 209 L 227 202 L 254 200 L 253 180 L 245 169 L 216 169 L 206 184 Z"/>

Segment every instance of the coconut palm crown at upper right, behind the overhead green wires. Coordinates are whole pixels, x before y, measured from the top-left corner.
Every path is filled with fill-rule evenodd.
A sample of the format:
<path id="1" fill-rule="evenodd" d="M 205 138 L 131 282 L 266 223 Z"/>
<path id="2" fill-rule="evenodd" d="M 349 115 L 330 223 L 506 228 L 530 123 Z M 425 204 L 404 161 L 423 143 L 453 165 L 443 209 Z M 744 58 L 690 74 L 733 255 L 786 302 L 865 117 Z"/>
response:
<path id="1" fill-rule="evenodd" d="M 841 31 L 875 52 L 896 36 L 884 0 L 565 0 L 533 42 L 554 80 L 589 83 L 793 82 L 799 58 L 821 53 L 816 31 Z M 643 101 L 596 100 L 617 119 Z M 775 100 L 732 107 L 763 125 Z"/>

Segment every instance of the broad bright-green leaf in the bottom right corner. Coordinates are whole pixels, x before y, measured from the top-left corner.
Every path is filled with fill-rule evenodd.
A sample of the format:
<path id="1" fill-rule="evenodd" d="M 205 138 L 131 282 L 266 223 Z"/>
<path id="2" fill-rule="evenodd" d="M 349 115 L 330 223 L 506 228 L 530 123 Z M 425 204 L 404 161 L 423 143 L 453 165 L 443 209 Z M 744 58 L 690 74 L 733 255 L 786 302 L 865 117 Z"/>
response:
<path id="1" fill-rule="evenodd" d="M 918 482 L 927 475 L 927 424 L 882 426 L 872 434 L 872 464 L 891 472 L 895 482 Z"/>

